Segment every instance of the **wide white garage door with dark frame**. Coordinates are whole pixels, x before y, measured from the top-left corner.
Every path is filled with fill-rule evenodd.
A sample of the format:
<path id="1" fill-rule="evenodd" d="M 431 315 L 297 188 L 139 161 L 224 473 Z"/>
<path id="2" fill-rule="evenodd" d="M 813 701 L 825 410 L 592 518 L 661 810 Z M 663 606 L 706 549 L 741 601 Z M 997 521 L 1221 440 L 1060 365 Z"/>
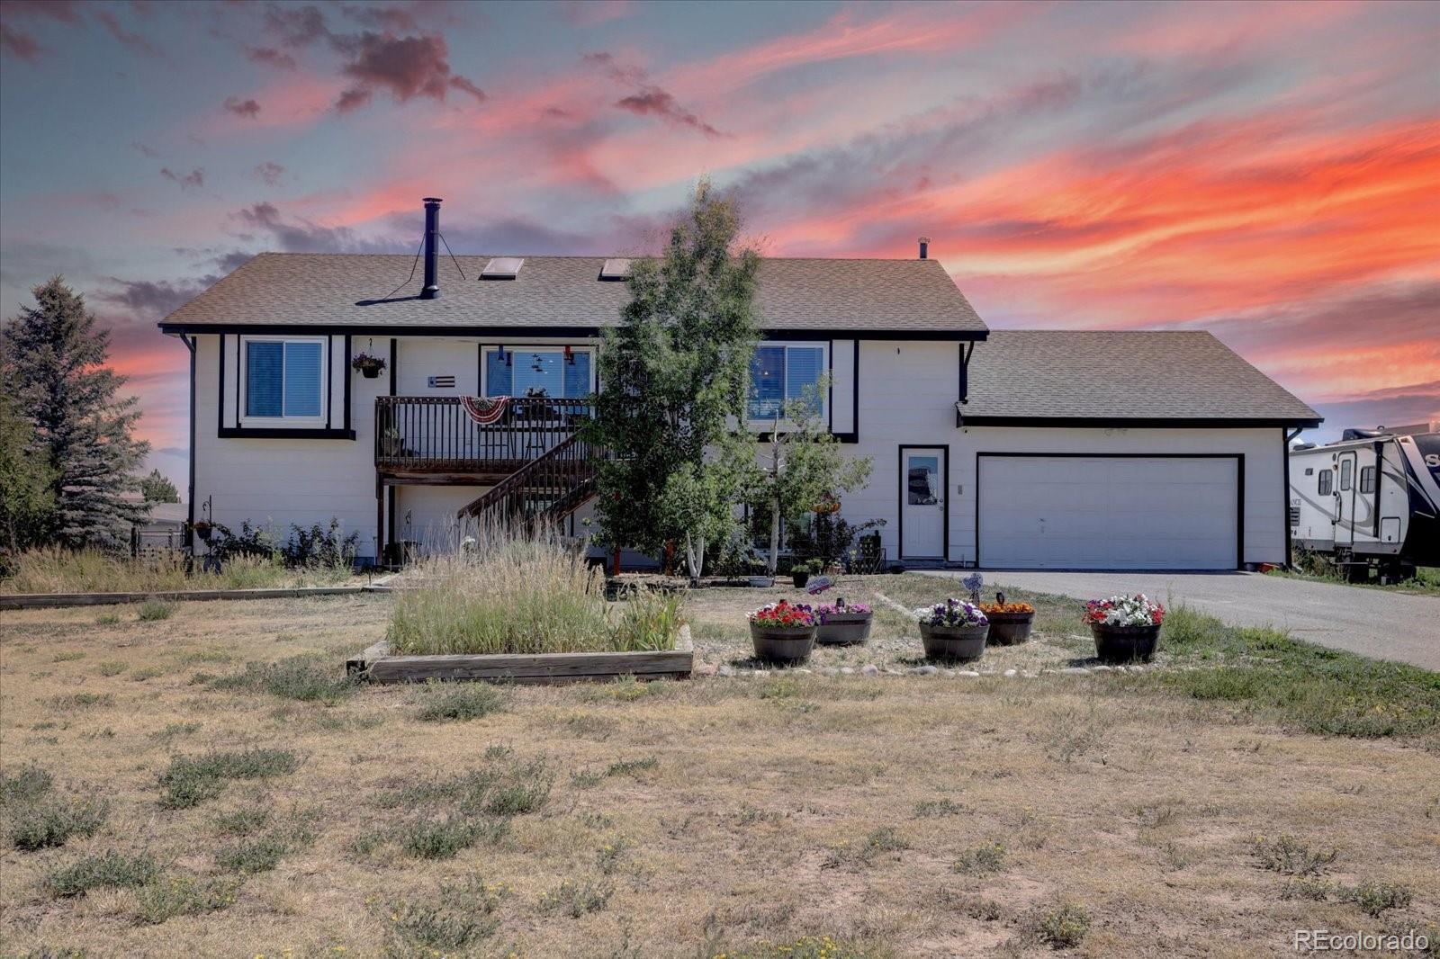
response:
<path id="1" fill-rule="evenodd" d="M 1231 458 L 979 456 L 979 562 L 1236 569 Z"/>

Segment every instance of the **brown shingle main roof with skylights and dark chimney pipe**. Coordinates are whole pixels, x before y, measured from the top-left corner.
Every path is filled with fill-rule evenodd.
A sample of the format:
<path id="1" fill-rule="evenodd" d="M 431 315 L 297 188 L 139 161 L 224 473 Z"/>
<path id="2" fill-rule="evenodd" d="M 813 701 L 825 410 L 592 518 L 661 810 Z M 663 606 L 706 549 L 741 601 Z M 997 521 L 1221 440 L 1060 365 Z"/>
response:
<path id="1" fill-rule="evenodd" d="M 480 281 L 490 256 L 439 262 L 441 297 L 415 300 L 412 256 L 261 253 L 161 323 L 167 330 L 226 325 L 595 330 L 619 320 L 624 282 L 600 282 L 603 256 L 526 256 L 513 281 Z M 933 259 L 775 259 L 760 262 L 757 305 L 768 331 L 985 333 L 965 294 Z"/>

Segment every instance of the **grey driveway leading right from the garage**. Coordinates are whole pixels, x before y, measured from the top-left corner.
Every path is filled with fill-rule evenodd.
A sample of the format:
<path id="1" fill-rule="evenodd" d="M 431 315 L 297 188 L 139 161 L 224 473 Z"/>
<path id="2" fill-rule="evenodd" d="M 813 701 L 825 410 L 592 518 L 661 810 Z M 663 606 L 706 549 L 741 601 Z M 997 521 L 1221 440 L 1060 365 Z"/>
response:
<path id="1" fill-rule="evenodd" d="M 919 570 L 917 570 L 919 572 Z M 933 572 L 963 577 L 969 570 Z M 991 585 L 1094 599 L 1146 593 L 1185 602 L 1237 626 L 1282 626 L 1296 639 L 1377 659 L 1440 670 L 1440 596 L 1316 583 L 1263 573 L 1053 573 L 985 572 Z"/>

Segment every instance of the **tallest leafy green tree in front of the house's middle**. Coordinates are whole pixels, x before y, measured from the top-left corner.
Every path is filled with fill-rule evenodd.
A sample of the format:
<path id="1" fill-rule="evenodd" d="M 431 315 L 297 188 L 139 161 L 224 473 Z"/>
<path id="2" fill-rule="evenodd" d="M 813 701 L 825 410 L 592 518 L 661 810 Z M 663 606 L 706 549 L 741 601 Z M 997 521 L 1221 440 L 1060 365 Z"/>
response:
<path id="1" fill-rule="evenodd" d="M 684 544 L 698 575 L 708 543 L 734 527 L 734 500 L 755 442 L 740 442 L 757 341 L 759 258 L 734 249 L 734 206 L 708 183 L 674 226 L 665 252 L 635 261 L 631 301 L 605 331 L 589 438 L 600 464 L 600 540 L 658 554 Z"/>

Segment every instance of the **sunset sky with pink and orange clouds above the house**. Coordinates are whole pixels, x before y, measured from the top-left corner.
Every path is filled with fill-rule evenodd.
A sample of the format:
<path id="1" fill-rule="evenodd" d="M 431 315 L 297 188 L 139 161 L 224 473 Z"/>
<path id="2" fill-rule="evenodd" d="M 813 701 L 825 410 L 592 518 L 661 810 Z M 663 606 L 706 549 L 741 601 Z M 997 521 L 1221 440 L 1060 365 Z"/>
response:
<path id="1" fill-rule="evenodd" d="M 431 194 L 456 253 L 636 253 L 708 174 L 765 253 L 927 235 L 992 328 L 1440 419 L 1437 49 L 1440 3 L 4 0 L 0 307 L 84 292 L 179 478 L 154 324 L 249 255 L 410 253 Z"/>

